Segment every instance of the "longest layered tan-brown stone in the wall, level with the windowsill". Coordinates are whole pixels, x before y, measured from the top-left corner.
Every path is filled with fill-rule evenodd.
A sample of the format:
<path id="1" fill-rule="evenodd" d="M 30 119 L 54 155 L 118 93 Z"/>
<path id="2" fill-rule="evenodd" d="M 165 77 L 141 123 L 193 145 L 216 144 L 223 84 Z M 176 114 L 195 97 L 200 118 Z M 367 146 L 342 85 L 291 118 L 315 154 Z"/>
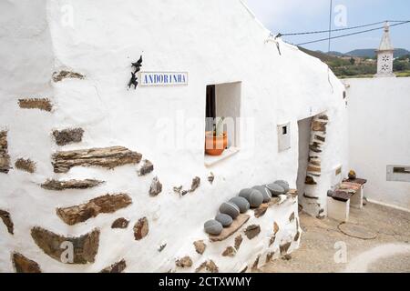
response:
<path id="1" fill-rule="evenodd" d="M 123 146 L 91 148 L 56 152 L 52 156 L 55 173 L 67 173 L 74 166 L 101 166 L 113 169 L 117 166 L 138 164 L 142 155 Z"/>

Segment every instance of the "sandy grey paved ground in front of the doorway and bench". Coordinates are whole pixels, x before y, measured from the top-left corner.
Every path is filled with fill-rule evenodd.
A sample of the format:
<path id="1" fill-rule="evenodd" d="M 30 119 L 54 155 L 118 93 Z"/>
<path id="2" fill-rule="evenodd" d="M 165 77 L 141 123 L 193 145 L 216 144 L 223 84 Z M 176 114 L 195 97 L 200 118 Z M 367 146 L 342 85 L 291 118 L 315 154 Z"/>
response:
<path id="1" fill-rule="evenodd" d="M 318 220 L 304 213 L 300 216 L 303 229 L 301 248 L 293 252 L 290 259 L 272 261 L 261 272 L 410 273 L 410 213 L 374 204 L 367 204 L 364 210 L 351 209 L 349 225 L 343 229 L 355 225 L 352 228 L 356 228 L 356 236 L 360 236 L 362 230 L 367 237 L 376 235 L 373 239 L 346 236 L 338 229 L 340 223 L 333 219 Z M 337 248 L 334 246 L 336 243 Z M 341 246 L 346 246 L 347 260 L 336 263 L 334 256 L 343 259 Z"/>

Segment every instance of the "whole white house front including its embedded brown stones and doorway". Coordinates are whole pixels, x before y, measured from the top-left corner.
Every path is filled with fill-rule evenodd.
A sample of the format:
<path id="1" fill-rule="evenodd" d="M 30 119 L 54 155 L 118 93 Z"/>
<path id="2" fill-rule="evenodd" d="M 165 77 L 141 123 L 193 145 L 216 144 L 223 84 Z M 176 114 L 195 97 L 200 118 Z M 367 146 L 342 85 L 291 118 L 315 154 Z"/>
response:
<path id="1" fill-rule="evenodd" d="M 1 6 L 0 271 L 251 272 L 299 247 L 298 208 L 326 216 L 344 85 L 240 0 Z M 207 115 L 226 117 L 221 156 Z M 276 180 L 291 190 L 205 233 Z"/>

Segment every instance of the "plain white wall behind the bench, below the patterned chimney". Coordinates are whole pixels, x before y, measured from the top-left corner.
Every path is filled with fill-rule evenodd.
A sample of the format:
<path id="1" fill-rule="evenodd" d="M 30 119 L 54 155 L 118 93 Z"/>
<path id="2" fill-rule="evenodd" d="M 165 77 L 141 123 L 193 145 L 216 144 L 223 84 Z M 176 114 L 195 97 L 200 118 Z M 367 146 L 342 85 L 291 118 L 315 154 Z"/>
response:
<path id="1" fill-rule="evenodd" d="M 386 166 L 410 166 L 410 78 L 347 79 L 350 165 L 368 179 L 365 196 L 410 209 L 410 183 Z"/>

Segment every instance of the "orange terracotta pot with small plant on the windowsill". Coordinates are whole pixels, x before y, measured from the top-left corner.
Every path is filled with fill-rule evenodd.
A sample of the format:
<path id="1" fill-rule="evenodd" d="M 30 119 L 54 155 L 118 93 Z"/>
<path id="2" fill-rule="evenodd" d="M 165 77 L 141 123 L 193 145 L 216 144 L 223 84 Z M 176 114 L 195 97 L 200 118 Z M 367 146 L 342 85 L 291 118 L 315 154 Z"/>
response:
<path id="1" fill-rule="evenodd" d="M 213 125 L 213 131 L 205 132 L 205 153 L 210 156 L 222 155 L 228 146 L 228 135 L 223 130 L 224 117 L 216 118 Z"/>

